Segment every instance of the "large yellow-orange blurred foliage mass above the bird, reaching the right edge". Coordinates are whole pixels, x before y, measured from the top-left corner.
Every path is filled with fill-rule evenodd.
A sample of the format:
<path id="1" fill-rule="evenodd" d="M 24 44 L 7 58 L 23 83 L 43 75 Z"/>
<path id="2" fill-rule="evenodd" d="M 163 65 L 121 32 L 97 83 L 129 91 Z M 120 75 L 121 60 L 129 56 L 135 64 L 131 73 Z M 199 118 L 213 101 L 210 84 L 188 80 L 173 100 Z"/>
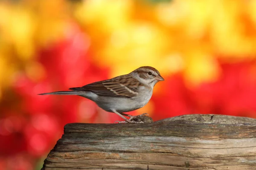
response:
<path id="1" fill-rule="evenodd" d="M 183 71 L 186 84 L 195 86 L 218 78 L 216 54 L 228 62 L 255 57 L 253 0 L 172 0 L 152 6 L 145 20 L 140 3 L 89 0 L 78 7 L 76 17 L 98 34 L 93 59 L 111 67 L 111 77 L 151 65 L 163 75 Z"/>

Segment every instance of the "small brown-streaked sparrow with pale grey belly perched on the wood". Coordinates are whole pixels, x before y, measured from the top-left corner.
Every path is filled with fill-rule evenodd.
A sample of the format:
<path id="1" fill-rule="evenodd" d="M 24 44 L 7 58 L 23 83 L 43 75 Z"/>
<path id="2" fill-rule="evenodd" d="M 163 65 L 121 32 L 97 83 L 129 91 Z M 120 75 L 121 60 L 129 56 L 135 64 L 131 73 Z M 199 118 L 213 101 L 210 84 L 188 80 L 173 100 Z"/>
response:
<path id="1" fill-rule="evenodd" d="M 152 96 L 154 85 L 163 80 L 157 69 L 144 66 L 137 68 L 129 74 L 93 82 L 79 88 L 70 88 L 71 91 L 56 91 L 40 95 L 82 96 L 96 102 L 103 110 L 121 116 L 125 119 L 122 123 L 140 123 L 131 120 L 137 116 L 131 116 L 122 112 L 134 111 L 145 106 Z M 125 116 L 129 116 L 130 119 L 127 119 Z"/>

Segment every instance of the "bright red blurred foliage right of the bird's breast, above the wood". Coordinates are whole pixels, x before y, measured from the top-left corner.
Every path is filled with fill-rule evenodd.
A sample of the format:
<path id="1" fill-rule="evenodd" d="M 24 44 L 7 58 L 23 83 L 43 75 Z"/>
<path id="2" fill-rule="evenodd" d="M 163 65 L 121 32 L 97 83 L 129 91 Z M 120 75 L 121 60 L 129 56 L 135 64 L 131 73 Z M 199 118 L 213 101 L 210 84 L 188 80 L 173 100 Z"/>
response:
<path id="1" fill-rule="evenodd" d="M 183 114 L 224 114 L 256 118 L 256 63 L 221 63 L 221 77 L 196 88 L 185 86 L 182 74 L 167 77 L 154 94 L 154 121 Z"/>

